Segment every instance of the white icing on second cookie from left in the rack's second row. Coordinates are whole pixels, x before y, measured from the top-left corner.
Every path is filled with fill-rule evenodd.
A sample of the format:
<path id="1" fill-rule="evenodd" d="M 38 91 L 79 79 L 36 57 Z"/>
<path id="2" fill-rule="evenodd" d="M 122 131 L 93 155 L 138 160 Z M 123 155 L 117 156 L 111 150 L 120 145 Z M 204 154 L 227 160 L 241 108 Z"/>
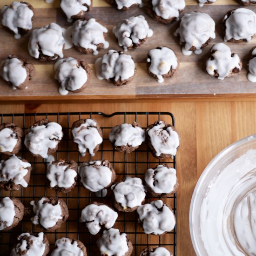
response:
<path id="1" fill-rule="evenodd" d="M 77 175 L 76 171 L 68 168 L 68 164 L 62 165 L 63 162 L 58 162 L 58 164 L 47 164 L 46 177 L 50 181 L 50 186 L 52 188 L 55 186 L 58 186 L 59 188 L 69 188 L 75 182 L 74 178 Z"/>

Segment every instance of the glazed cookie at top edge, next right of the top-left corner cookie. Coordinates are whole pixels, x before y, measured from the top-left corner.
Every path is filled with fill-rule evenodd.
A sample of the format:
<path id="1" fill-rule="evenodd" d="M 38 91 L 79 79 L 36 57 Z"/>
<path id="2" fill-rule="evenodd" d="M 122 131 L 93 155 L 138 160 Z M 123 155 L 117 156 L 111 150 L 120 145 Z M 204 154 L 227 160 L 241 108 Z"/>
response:
<path id="1" fill-rule="evenodd" d="M 72 19 L 82 19 L 90 11 L 92 5 L 92 0 L 61 0 L 61 9 L 69 22 L 72 22 Z"/>

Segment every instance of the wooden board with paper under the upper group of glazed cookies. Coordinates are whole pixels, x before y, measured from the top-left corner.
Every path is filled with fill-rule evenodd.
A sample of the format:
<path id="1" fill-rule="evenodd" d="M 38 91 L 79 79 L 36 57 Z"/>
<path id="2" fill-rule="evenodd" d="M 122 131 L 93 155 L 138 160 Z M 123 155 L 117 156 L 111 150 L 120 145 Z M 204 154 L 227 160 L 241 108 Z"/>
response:
<path id="1" fill-rule="evenodd" d="M 1 0 L 0 8 L 5 4 L 10 4 L 12 0 Z M 54 0 L 52 4 L 46 4 L 44 0 L 29 0 L 35 8 L 34 28 L 45 26 L 50 22 L 57 22 L 62 27 L 68 27 L 65 15 L 59 8 L 59 0 Z M 138 72 L 135 79 L 128 85 L 115 87 L 111 83 L 98 80 L 93 74 L 90 85 L 84 91 L 78 94 L 69 93 L 66 96 L 58 94 L 58 83 L 54 80 L 53 62 L 41 63 L 29 56 L 27 52 L 27 42 L 29 34 L 20 40 L 15 40 L 13 35 L 0 27 L 0 61 L 7 58 L 9 54 L 15 54 L 20 57 L 28 58 L 33 62 L 36 68 L 36 76 L 27 90 L 16 90 L 8 87 L 6 83 L 0 80 L 0 100 L 47 100 L 47 99 L 120 99 L 120 98 L 148 98 L 148 97 L 215 97 L 227 95 L 255 95 L 256 86 L 247 80 L 247 63 L 249 60 L 249 50 L 255 46 L 256 37 L 249 43 L 228 43 L 232 52 L 237 53 L 242 61 L 242 71 L 235 77 L 220 81 L 215 77 L 209 76 L 203 70 L 203 64 L 209 55 L 210 47 L 218 42 L 223 42 L 220 20 L 230 9 L 240 7 L 235 0 L 217 0 L 212 5 L 198 7 L 195 0 L 186 0 L 186 8 L 183 13 L 199 11 L 208 13 L 216 21 L 216 39 L 208 47 L 204 48 L 201 55 L 192 54 L 184 56 L 181 53 L 179 40 L 174 36 L 177 22 L 171 25 L 163 25 L 152 20 L 144 10 L 136 7 L 126 12 L 116 10 L 108 6 L 104 0 L 94 0 L 92 11 L 87 13 L 87 18 L 96 18 L 101 20 L 108 28 L 107 39 L 110 42 L 109 49 L 121 50 L 112 33 L 112 27 L 117 22 L 132 15 L 144 14 L 148 20 L 149 27 L 153 29 L 154 34 L 138 49 L 128 51 L 135 60 Z M 248 7 L 256 10 L 255 6 Z M 146 57 L 149 49 L 157 46 L 171 47 L 178 55 L 180 60 L 180 69 L 177 75 L 172 79 L 165 79 L 164 83 L 159 84 L 154 78 L 150 77 L 146 68 Z M 101 50 L 97 56 L 92 54 L 81 54 L 74 48 L 65 50 L 65 57 L 74 57 L 87 61 L 91 67 L 94 67 L 94 61 L 101 57 L 108 50 Z"/>

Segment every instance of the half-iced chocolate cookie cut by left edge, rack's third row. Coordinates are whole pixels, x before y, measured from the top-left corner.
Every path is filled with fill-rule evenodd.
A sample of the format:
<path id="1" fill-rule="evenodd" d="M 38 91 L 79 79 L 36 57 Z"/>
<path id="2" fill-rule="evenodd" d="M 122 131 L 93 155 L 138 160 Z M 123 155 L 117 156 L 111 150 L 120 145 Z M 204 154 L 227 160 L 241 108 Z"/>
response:
<path id="1" fill-rule="evenodd" d="M 0 230 L 8 231 L 23 219 L 24 205 L 15 197 L 4 197 L 0 201 Z"/>

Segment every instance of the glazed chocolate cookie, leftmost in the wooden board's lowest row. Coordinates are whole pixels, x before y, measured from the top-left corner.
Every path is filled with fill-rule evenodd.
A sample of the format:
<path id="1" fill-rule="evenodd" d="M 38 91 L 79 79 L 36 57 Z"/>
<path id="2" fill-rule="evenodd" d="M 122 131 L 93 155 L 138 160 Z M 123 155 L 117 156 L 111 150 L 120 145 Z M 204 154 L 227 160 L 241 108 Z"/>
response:
<path id="1" fill-rule="evenodd" d="M 27 59 L 9 55 L 0 64 L 0 75 L 13 90 L 27 89 L 29 82 L 35 76 L 35 68 Z"/>

